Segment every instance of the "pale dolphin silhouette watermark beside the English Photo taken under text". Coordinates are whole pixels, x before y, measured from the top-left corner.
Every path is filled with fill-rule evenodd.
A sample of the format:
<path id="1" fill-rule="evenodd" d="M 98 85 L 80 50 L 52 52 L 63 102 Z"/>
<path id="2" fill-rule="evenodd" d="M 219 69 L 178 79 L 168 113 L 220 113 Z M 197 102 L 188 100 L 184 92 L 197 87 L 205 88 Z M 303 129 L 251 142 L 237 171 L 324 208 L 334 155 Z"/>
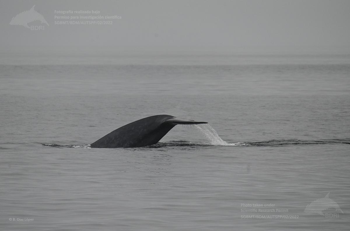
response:
<path id="1" fill-rule="evenodd" d="M 323 214 L 323 211 L 331 208 L 335 209 L 335 211 L 344 213 L 343 210 L 339 207 L 338 203 L 333 201 L 331 198 L 329 198 L 329 192 L 328 192 L 328 194 L 325 197 L 317 199 L 311 202 L 310 204 L 308 204 L 304 212 L 315 212 L 322 216 L 325 216 Z"/>

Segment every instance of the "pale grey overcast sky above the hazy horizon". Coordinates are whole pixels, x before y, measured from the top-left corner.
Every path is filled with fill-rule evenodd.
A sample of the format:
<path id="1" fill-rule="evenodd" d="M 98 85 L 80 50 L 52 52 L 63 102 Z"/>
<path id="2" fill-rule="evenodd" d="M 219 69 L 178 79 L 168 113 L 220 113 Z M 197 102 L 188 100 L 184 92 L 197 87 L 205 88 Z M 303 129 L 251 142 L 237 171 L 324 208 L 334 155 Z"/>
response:
<path id="1" fill-rule="evenodd" d="M 350 47 L 349 0 L 159 0 L 159 1 L 36 1 L 0 0 L 0 48 L 25 46 L 135 47 L 243 47 L 345 46 Z M 29 10 L 42 14 L 49 26 L 30 30 L 9 25 Z M 97 10 L 121 19 L 112 25 L 55 25 L 56 11 Z"/>

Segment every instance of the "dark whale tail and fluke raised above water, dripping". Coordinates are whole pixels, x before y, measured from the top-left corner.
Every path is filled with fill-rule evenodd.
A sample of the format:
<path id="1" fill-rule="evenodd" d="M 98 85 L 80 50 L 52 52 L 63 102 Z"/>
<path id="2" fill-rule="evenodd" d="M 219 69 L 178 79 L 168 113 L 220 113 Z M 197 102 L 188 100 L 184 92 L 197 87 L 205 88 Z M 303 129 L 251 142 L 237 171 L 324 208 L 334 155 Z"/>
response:
<path id="1" fill-rule="evenodd" d="M 158 143 L 177 124 L 203 124 L 171 115 L 154 115 L 128 123 L 99 140 L 91 148 L 138 148 Z"/>

